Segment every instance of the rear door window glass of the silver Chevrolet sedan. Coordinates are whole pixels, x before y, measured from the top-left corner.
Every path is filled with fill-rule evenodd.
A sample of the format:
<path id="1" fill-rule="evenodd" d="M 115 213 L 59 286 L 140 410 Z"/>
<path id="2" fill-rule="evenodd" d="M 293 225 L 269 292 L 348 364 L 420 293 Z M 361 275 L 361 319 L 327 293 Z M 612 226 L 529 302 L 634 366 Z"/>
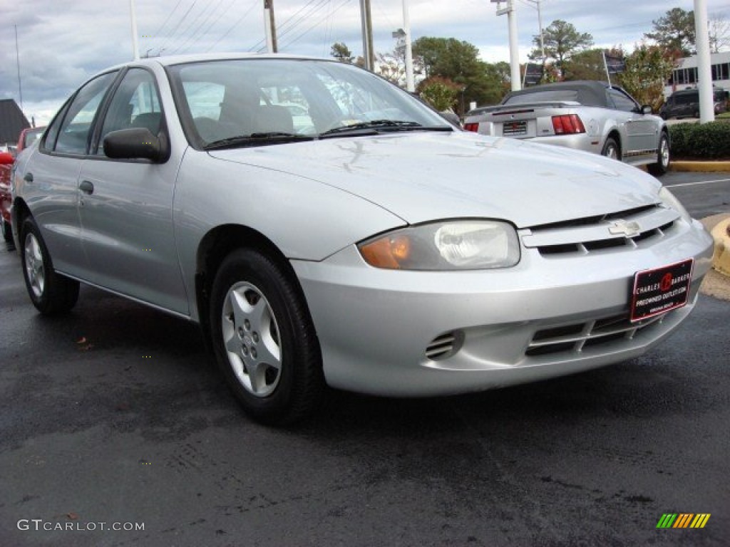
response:
<path id="1" fill-rule="evenodd" d="M 46 139 L 46 149 L 64 154 L 85 154 L 91 126 L 96 117 L 96 111 L 99 110 L 101 101 L 109 90 L 110 85 L 114 81 L 117 73 L 109 72 L 102 74 L 91 82 L 84 85 L 74 97 L 74 100 L 66 109 L 63 123 L 61 123 L 58 132 L 52 126 L 49 133 L 49 139 Z M 60 119 L 60 117 L 58 118 Z M 58 122 L 54 120 L 53 125 Z M 55 139 L 55 143 L 50 137 Z"/>

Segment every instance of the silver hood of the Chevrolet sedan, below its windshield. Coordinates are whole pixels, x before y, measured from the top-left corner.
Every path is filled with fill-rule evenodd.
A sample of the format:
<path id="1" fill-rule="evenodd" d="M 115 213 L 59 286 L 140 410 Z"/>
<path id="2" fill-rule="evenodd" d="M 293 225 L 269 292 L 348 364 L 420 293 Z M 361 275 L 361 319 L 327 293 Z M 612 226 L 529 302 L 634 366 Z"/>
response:
<path id="1" fill-rule="evenodd" d="M 389 133 L 210 154 L 314 179 L 409 224 L 493 218 L 518 228 L 658 203 L 652 176 L 588 152 L 474 133 Z"/>

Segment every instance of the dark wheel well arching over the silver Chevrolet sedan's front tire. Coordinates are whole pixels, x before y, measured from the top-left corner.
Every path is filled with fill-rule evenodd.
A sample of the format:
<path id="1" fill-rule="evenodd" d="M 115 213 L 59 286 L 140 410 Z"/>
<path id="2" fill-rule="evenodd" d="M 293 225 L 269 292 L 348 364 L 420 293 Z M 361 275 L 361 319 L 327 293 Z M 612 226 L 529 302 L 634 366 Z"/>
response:
<path id="1" fill-rule="evenodd" d="M 206 334 L 205 338 L 207 340 L 210 339 L 208 304 L 210 303 L 210 292 L 213 280 L 215 279 L 215 273 L 218 271 L 223 259 L 231 251 L 241 247 L 257 249 L 264 253 L 288 271 L 292 276 L 293 282 L 296 282 L 297 285 L 299 284 L 293 268 L 283 252 L 262 233 L 242 225 L 222 225 L 213 228 L 202 238 L 198 247 L 195 274 L 198 319 Z"/>

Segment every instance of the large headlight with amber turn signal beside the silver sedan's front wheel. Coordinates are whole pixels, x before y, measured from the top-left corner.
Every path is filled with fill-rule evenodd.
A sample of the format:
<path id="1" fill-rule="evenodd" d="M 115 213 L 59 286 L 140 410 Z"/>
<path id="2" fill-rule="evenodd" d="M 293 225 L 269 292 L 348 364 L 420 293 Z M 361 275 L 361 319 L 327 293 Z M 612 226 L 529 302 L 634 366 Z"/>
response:
<path id="1" fill-rule="evenodd" d="M 410 226 L 363 241 L 358 249 L 369 265 L 401 270 L 508 268 L 520 261 L 515 228 L 496 220 Z"/>

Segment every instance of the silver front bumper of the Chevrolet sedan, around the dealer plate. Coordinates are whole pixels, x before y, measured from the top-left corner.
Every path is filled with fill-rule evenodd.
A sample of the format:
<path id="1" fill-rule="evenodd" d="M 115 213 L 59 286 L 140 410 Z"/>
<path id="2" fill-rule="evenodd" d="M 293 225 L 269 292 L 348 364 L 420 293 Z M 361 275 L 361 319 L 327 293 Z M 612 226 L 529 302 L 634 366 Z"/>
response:
<path id="1" fill-rule="evenodd" d="M 546 257 L 523 247 L 514 268 L 387 271 L 348 247 L 293 261 L 328 384 L 375 395 L 480 391 L 637 357 L 694 308 L 712 238 L 694 221 L 647 247 Z M 628 321 L 637 271 L 694 257 L 687 306 Z"/>

